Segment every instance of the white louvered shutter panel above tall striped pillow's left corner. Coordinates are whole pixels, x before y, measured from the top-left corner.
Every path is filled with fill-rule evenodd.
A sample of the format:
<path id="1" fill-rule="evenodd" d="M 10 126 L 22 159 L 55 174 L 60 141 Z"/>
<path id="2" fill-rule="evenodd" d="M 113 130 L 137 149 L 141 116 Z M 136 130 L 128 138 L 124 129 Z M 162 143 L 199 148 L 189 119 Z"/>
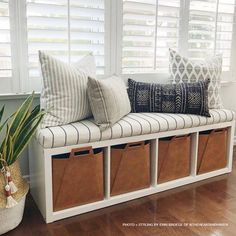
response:
<path id="1" fill-rule="evenodd" d="M 68 61 L 67 0 L 27 0 L 29 78 L 40 76 L 38 51 Z"/>

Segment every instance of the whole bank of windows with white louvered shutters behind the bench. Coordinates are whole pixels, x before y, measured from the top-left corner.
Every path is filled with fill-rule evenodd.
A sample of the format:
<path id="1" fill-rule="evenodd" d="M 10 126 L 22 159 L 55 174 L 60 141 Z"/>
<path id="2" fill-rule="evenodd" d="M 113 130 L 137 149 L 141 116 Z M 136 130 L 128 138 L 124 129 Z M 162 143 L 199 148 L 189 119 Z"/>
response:
<path id="1" fill-rule="evenodd" d="M 0 0 L 0 93 L 41 90 L 38 50 L 68 63 L 92 51 L 100 76 L 161 79 L 169 48 L 195 61 L 222 53 L 232 79 L 235 9 L 236 0 Z"/>

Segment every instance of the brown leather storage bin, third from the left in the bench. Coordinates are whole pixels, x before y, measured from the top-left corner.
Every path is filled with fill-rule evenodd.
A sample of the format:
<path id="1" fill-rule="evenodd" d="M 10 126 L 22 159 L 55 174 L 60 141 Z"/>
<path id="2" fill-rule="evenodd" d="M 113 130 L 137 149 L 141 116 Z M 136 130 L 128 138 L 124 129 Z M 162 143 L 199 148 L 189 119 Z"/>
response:
<path id="1" fill-rule="evenodd" d="M 158 183 L 189 176 L 190 144 L 190 135 L 174 136 L 159 140 Z"/>

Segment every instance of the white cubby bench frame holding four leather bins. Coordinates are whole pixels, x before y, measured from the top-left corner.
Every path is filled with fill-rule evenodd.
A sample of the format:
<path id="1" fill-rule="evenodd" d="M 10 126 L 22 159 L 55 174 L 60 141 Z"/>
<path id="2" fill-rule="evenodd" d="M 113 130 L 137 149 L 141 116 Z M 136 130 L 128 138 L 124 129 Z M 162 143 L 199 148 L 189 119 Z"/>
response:
<path id="1" fill-rule="evenodd" d="M 226 168 L 197 175 L 197 150 L 199 132 L 211 129 L 228 128 L 227 144 L 227 166 Z M 85 212 L 108 207 L 132 199 L 144 197 L 168 189 L 176 188 L 200 180 L 222 175 L 232 171 L 233 143 L 234 143 L 235 121 L 223 122 L 213 125 L 205 125 L 194 128 L 179 129 L 154 134 L 132 136 L 127 138 L 112 139 L 94 143 L 84 143 L 58 148 L 43 148 L 36 139 L 30 144 L 30 191 L 41 211 L 46 223 L 82 214 Z M 168 136 L 191 134 L 191 172 L 188 177 L 176 179 L 162 184 L 157 184 L 158 163 L 158 139 Z M 151 186 L 139 191 L 129 192 L 118 196 L 110 196 L 110 151 L 111 146 L 142 141 L 151 141 Z M 69 153 L 72 148 L 92 146 L 93 148 L 104 148 L 104 178 L 105 198 L 102 201 L 89 203 L 57 212 L 53 212 L 52 192 L 52 155 Z"/>

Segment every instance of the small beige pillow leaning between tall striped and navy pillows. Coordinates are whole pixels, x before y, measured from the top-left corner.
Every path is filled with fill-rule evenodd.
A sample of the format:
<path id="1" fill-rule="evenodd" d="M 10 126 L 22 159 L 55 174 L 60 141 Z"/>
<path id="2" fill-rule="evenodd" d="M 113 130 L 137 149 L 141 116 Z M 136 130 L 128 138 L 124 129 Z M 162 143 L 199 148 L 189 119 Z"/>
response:
<path id="1" fill-rule="evenodd" d="M 96 124 L 101 130 L 113 126 L 130 110 L 124 81 L 116 76 L 108 79 L 88 79 L 88 96 Z"/>

